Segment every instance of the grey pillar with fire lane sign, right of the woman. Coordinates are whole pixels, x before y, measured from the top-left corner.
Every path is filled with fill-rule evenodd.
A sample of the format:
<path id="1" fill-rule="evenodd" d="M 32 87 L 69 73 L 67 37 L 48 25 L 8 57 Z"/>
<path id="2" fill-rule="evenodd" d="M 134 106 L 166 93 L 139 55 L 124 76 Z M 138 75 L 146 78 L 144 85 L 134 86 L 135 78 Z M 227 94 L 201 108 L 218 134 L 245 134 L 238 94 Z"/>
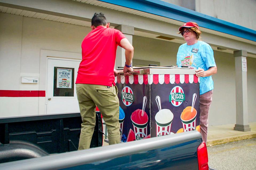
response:
<path id="1" fill-rule="evenodd" d="M 248 124 L 247 105 L 247 51 L 234 51 L 235 57 L 235 99 L 236 124 L 234 130 L 251 131 Z"/>

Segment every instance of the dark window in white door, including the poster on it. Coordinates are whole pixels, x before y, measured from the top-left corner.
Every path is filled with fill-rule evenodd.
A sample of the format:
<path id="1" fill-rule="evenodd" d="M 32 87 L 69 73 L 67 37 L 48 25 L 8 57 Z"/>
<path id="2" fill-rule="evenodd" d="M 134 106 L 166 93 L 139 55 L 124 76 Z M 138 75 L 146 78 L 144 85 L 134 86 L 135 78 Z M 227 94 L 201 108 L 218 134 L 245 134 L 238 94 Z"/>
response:
<path id="1" fill-rule="evenodd" d="M 54 67 L 53 96 L 74 97 L 74 68 Z"/>

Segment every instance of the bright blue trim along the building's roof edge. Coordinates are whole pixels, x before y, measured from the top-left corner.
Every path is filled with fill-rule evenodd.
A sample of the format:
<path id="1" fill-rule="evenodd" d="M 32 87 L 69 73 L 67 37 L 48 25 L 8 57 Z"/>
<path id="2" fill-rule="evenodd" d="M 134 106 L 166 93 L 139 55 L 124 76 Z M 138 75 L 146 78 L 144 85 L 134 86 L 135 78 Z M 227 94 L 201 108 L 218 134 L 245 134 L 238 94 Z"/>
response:
<path id="1" fill-rule="evenodd" d="M 79 0 L 76 0 L 79 1 Z M 256 31 L 160 0 L 99 0 L 180 22 L 197 22 L 200 27 L 256 41 Z M 82 2 L 82 1 L 80 1 Z M 85 2 L 86 3 L 86 2 Z"/>

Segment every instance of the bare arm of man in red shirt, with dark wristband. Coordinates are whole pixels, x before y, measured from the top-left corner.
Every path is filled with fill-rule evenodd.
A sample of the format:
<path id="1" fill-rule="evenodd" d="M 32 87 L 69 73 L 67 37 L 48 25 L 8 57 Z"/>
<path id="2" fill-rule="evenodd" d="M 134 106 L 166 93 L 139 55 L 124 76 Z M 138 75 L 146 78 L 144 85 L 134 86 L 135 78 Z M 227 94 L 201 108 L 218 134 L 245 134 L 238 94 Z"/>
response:
<path id="1" fill-rule="evenodd" d="M 133 59 L 133 51 L 134 51 L 133 46 L 126 38 L 123 38 L 120 41 L 120 44 L 121 44 L 122 48 L 125 49 L 125 64 L 130 65 L 131 60 Z M 125 75 L 131 75 L 131 74 L 127 73 L 128 71 L 133 71 L 133 68 L 124 66 L 123 72 L 125 73 Z"/>

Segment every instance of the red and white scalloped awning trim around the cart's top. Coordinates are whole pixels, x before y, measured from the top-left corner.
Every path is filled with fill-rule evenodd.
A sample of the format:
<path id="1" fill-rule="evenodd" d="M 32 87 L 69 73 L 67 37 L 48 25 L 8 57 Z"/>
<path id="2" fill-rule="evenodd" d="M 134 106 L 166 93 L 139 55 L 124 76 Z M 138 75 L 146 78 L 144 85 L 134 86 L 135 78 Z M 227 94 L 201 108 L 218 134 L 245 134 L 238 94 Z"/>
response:
<path id="1" fill-rule="evenodd" d="M 195 74 L 139 74 L 124 77 L 119 75 L 115 77 L 115 83 L 130 84 L 178 84 L 178 83 L 200 83 L 200 78 Z"/>

